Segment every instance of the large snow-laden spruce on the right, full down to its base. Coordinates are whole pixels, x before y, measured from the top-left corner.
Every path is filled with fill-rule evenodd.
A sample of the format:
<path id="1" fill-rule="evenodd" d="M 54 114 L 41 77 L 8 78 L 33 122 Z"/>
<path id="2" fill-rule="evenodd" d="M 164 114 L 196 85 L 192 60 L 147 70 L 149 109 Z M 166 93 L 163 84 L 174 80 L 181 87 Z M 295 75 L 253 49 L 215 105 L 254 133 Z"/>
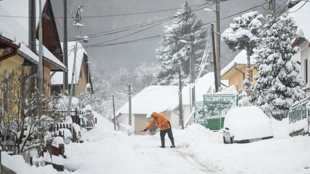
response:
<path id="1" fill-rule="evenodd" d="M 269 15 L 263 30 L 266 38 L 265 48 L 257 50 L 256 66 L 258 76 L 254 76 L 255 84 L 251 86 L 254 95 L 251 102 L 264 109 L 289 109 L 295 101 L 305 98 L 304 80 L 297 76 L 299 67 L 293 56 L 300 48 L 291 47 L 294 33 L 293 18 L 284 15 Z"/>

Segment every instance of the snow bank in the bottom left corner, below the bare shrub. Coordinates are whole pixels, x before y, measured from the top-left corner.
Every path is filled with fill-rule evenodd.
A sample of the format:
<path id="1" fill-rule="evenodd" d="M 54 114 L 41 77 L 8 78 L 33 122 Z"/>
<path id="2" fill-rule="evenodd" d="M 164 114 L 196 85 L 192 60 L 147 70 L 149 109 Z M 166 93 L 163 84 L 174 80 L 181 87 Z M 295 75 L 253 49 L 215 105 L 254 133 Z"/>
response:
<path id="1" fill-rule="evenodd" d="M 8 155 L 6 152 L 1 152 L 1 164 L 16 174 L 57 174 L 56 169 L 52 165 L 46 165 L 44 167 L 37 167 L 35 165 L 29 166 L 25 163 L 22 155 Z"/>

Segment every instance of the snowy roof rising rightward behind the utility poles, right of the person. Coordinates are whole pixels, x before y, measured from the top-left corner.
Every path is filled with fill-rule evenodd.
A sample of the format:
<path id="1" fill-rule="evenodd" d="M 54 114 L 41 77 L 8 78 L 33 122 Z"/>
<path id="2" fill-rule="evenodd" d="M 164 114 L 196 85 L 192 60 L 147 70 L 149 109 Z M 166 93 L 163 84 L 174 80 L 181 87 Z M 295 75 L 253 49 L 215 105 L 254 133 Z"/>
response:
<path id="1" fill-rule="evenodd" d="M 200 77 L 195 85 L 195 100 L 203 101 L 203 94 L 206 94 L 208 89 L 214 89 L 214 72 L 209 72 L 203 77 Z M 185 86 L 182 89 L 182 105 L 189 105 L 189 91 L 192 90 L 189 86 Z M 162 102 L 159 106 L 152 108 L 148 112 L 147 117 L 150 117 L 152 112 L 162 113 L 164 111 L 173 111 L 176 107 L 179 107 L 179 93 L 176 93 L 166 102 Z"/>

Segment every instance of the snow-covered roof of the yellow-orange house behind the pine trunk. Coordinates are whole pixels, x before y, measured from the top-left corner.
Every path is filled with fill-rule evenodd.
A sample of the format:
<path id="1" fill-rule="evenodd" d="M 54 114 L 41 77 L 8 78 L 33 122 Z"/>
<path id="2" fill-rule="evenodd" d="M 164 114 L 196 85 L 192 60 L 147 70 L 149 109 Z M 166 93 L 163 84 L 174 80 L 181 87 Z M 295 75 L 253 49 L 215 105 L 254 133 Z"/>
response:
<path id="1" fill-rule="evenodd" d="M 255 54 L 250 56 L 251 65 L 255 65 L 255 57 L 257 57 Z M 247 61 L 246 50 L 242 50 L 239 54 L 236 55 L 235 59 L 233 59 L 226 67 L 221 70 L 221 77 L 229 72 L 235 65 L 246 65 Z"/>

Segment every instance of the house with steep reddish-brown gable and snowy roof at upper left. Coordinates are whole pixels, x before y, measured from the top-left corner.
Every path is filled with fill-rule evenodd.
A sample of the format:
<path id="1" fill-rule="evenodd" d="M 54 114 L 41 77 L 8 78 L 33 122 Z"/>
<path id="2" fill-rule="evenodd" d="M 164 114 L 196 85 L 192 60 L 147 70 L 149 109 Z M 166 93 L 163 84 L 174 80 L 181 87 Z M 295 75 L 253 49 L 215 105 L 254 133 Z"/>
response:
<path id="1" fill-rule="evenodd" d="M 36 4 L 38 4 L 38 0 L 36 0 Z M 5 22 L 12 31 L 16 34 L 16 36 L 20 39 L 20 41 L 24 44 L 24 46 L 29 47 L 29 20 L 25 18 L 29 16 L 29 2 L 23 0 L 16 1 L 1 1 L 0 2 L 1 14 L 3 22 Z M 36 55 L 38 56 L 39 52 L 39 42 L 38 42 L 38 29 L 39 29 L 39 7 L 36 7 Z M 5 17 L 5 16 L 14 16 L 14 17 Z M 68 71 L 67 67 L 64 66 L 62 61 L 62 49 L 60 46 L 60 40 L 56 28 L 55 18 L 53 15 L 53 11 L 51 8 L 50 0 L 45 0 L 42 2 L 42 42 L 43 42 L 43 83 L 45 87 L 43 88 L 43 94 L 47 96 L 48 100 L 50 100 L 50 86 L 51 86 L 51 72 L 63 72 Z M 24 47 L 23 46 L 23 47 Z M 28 49 L 29 50 L 29 49 Z M 28 51 L 28 54 L 31 51 Z M 23 52 L 24 53 L 24 52 Z M 17 53 L 19 54 L 19 53 Z M 22 53 L 20 53 L 22 54 Z M 26 56 L 24 54 L 23 56 Z M 30 59 L 30 58 L 29 58 Z M 12 66 L 15 66 L 11 64 Z M 24 59 L 22 63 L 22 67 L 24 70 L 24 74 L 28 74 L 28 67 L 38 65 L 34 60 L 28 60 L 27 57 Z"/>

